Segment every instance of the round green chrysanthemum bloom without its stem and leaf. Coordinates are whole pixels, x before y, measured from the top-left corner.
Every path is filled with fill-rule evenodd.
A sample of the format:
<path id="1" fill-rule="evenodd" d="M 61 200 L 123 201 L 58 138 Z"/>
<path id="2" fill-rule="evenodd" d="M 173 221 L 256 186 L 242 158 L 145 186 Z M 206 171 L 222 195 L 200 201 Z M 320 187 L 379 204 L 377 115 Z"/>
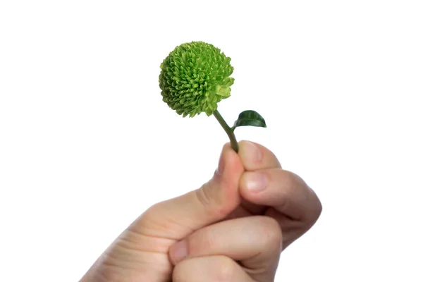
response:
<path id="1" fill-rule="evenodd" d="M 203 111 L 211 116 L 217 110 L 217 103 L 231 96 L 231 58 L 212 44 L 181 44 L 164 59 L 160 68 L 163 101 L 184 117 Z"/>

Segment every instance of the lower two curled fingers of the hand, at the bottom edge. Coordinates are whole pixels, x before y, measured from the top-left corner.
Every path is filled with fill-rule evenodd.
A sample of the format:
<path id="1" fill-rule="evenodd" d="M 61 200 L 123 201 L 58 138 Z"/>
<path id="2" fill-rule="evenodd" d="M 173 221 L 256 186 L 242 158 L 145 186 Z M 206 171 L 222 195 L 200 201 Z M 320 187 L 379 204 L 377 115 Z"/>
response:
<path id="1" fill-rule="evenodd" d="M 171 247 L 173 281 L 274 281 L 282 233 L 269 216 L 221 221 Z"/>

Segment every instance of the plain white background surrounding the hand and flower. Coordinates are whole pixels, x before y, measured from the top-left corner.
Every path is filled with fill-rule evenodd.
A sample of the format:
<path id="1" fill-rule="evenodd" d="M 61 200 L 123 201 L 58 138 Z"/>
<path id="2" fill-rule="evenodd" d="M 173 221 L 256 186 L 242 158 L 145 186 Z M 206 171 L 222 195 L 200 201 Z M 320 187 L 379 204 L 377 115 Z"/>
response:
<path id="1" fill-rule="evenodd" d="M 1 1 L 0 281 L 78 281 L 139 214 L 209 180 L 227 137 L 159 65 L 232 58 L 233 123 L 324 206 L 276 281 L 423 281 L 422 1 Z"/>

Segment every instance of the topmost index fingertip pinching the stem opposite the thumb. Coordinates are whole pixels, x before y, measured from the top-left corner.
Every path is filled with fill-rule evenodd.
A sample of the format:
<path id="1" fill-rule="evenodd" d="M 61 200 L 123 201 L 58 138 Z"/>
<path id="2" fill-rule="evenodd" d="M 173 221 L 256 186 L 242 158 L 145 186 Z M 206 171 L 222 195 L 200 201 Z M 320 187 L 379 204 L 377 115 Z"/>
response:
<path id="1" fill-rule="evenodd" d="M 275 154 L 266 147 L 255 142 L 241 141 L 239 142 L 238 155 L 245 170 L 257 171 L 266 168 L 281 168 Z"/>

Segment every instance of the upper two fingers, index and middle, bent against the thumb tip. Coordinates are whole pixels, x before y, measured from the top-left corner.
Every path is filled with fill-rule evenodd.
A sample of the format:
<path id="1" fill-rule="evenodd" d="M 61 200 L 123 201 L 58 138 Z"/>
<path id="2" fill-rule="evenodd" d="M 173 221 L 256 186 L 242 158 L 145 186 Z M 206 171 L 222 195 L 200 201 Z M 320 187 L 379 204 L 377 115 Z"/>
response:
<path id="1" fill-rule="evenodd" d="M 282 169 L 275 155 L 254 142 L 240 142 L 245 168 L 240 180 L 240 207 L 229 216 L 265 215 L 283 231 L 285 249 L 311 228 L 321 214 L 321 202 L 300 176 Z"/>

